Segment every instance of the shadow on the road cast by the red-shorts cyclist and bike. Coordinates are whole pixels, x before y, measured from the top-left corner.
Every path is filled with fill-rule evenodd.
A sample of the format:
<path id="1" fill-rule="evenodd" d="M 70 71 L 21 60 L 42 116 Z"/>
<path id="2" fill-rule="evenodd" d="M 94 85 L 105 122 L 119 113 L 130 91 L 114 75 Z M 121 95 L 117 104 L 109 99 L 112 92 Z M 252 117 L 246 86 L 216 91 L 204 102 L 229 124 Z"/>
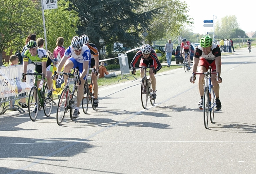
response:
<path id="1" fill-rule="evenodd" d="M 214 122 L 214 127 L 208 128 L 218 132 L 230 132 L 230 133 L 256 133 L 256 125 L 250 123 L 239 122 Z"/>

